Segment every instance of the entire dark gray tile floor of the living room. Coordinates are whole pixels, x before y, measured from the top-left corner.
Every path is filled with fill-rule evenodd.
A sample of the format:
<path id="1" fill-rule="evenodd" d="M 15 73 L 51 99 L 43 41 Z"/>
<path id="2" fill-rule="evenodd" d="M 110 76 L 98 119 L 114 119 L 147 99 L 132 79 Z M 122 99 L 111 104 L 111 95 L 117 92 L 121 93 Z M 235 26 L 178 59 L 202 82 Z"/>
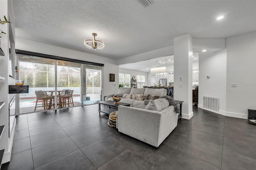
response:
<path id="1" fill-rule="evenodd" d="M 193 106 L 158 149 L 120 134 L 98 105 L 20 115 L 1 170 L 252 170 L 256 126 Z"/>

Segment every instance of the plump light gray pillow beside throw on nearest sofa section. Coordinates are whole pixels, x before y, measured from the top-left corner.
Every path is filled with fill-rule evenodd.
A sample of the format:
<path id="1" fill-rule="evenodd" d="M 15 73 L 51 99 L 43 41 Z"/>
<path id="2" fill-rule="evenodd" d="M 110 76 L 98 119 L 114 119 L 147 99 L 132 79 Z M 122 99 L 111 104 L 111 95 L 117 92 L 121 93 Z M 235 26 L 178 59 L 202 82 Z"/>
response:
<path id="1" fill-rule="evenodd" d="M 145 109 L 151 110 L 151 111 L 162 111 L 168 106 L 169 106 L 169 102 L 166 99 L 162 98 L 162 99 L 149 101 Z"/>

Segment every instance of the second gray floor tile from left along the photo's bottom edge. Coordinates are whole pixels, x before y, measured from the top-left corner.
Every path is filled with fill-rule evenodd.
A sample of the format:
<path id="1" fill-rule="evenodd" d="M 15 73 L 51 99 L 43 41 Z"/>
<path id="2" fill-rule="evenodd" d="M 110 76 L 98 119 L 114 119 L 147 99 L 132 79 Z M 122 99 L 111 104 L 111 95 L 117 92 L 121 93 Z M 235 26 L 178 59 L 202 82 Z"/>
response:
<path id="1" fill-rule="evenodd" d="M 62 156 L 35 170 L 95 170 L 96 167 L 84 156 L 81 150 Z"/>

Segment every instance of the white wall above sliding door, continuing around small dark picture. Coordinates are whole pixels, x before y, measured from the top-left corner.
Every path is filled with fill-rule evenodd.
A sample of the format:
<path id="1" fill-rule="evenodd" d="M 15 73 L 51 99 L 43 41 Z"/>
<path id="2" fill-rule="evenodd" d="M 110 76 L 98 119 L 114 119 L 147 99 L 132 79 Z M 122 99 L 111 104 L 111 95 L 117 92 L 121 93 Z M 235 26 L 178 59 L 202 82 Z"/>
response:
<path id="1" fill-rule="evenodd" d="M 36 53 L 43 53 L 48 55 L 55 55 L 59 57 L 66 57 L 72 59 L 79 59 L 82 61 L 90 61 L 95 63 L 104 64 L 103 67 L 103 96 L 107 94 L 116 93 L 118 91 L 118 65 L 116 65 L 117 61 L 115 59 L 110 59 L 106 57 L 101 57 L 98 55 L 93 55 L 89 53 L 83 53 L 80 51 L 74 51 L 71 49 L 66 49 L 62 47 L 57 47 L 54 45 L 34 42 L 30 40 L 25 40 L 22 38 L 16 37 L 16 49 L 31 51 Z M 115 74 L 115 82 L 109 81 L 109 74 Z M 116 84 L 113 86 L 112 84 Z"/>

